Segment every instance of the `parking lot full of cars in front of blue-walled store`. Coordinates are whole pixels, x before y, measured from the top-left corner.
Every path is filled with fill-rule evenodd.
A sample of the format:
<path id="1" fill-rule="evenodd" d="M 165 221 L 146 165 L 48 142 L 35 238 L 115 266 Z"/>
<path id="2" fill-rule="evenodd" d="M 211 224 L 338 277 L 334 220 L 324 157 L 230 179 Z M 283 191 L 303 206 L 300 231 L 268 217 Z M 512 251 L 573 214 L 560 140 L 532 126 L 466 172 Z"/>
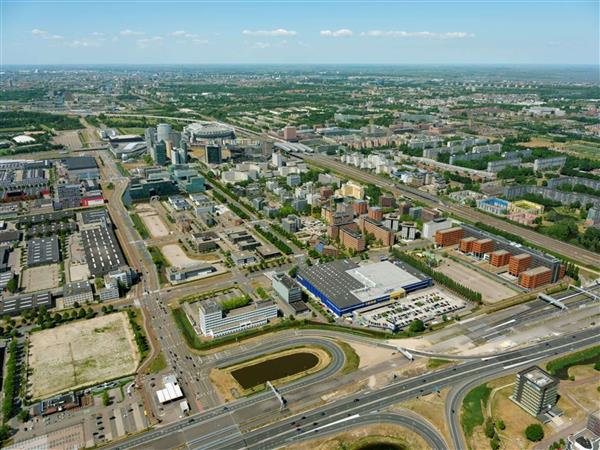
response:
<path id="1" fill-rule="evenodd" d="M 365 326 L 403 330 L 415 320 L 422 320 L 424 323 L 439 322 L 444 316 L 449 318 L 466 306 L 467 302 L 464 300 L 451 297 L 438 289 L 429 289 L 370 311 L 355 312 L 355 317 Z"/>

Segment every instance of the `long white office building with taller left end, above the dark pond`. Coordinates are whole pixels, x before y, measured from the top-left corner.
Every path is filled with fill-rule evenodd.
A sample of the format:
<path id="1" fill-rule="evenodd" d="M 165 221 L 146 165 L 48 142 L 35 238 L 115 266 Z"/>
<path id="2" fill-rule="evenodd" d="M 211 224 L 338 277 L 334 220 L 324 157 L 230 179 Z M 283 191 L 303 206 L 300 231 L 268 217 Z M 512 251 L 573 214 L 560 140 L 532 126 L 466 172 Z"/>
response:
<path id="1" fill-rule="evenodd" d="M 212 338 L 239 333 L 266 325 L 277 318 L 277 305 L 270 300 L 252 303 L 248 306 L 223 311 L 220 303 L 208 300 L 199 308 L 200 331 Z"/>

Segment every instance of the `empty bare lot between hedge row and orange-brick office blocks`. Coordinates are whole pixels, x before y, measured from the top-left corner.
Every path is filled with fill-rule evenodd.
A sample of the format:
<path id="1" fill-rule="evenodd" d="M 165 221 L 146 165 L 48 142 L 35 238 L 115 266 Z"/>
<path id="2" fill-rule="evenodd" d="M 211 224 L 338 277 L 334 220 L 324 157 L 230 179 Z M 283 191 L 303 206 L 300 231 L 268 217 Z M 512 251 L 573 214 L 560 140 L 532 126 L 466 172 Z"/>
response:
<path id="1" fill-rule="evenodd" d="M 436 270 L 448 275 L 453 280 L 460 280 L 464 286 L 481 292 L 483 301 L 486 303 L 496 303 L 518 293 L 508 286 L 494 281 L 491 277 L 480 274 L 448 258 L 444 258 Z"/>

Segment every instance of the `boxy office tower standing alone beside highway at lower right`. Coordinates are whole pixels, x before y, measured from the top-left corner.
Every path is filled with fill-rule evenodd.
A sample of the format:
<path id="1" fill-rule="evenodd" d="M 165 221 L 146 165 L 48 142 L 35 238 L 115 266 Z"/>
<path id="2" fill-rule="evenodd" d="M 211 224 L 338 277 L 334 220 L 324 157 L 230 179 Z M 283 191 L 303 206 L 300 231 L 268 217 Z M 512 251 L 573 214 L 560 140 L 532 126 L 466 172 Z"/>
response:
<path id="1" fill-rule="evenodd" d="M 517 373 L 511 400 L 532 416 L 539 416 L 556 405 L 558 378 L 537 366 Z"/>

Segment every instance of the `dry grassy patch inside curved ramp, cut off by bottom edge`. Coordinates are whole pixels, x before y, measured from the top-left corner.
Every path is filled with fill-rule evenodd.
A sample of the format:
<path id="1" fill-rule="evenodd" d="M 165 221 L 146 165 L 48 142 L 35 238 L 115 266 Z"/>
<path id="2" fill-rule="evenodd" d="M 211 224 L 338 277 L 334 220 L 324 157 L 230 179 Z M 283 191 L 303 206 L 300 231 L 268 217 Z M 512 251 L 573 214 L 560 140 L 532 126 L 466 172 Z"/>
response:
<path id="1" fill-rule="evenodd" d="M 391 438 L 388 440 L 386 438 Z M 429 446 L 416 433 L 397 425 L 380 424 L 357 427 L 334 436 L 288 445 L 286 450 L 338 450 L 361 448 L 369 442 L 403 445 L 411 450 L 426 450 Z M 375 447 L 373 447 L 375 448 Z M 384 448 L 383 445 L 377 448 Z"/>

